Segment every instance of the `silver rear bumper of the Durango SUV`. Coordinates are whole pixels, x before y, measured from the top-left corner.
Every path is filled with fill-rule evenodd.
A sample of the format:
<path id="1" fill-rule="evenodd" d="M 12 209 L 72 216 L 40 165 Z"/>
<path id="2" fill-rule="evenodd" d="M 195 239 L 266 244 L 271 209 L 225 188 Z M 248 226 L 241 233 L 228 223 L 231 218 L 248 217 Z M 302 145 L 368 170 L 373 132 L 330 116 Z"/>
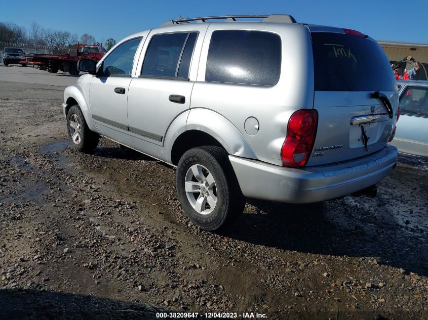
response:
<path id="1" fill-rule="evenodd" d="M 229 155 L 244 196 L 289 203 L 340 198 L 370 187 L 397 164 L 397 148 L 387 146 L 367 157 L 343 163 L 286 168 Z"/>

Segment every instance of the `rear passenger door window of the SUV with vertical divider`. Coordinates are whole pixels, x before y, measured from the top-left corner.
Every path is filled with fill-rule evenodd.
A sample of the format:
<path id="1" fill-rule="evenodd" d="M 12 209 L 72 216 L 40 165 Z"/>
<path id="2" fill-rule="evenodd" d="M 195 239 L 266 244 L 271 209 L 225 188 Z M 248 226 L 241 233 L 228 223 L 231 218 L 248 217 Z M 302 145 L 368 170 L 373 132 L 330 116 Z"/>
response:
<path id="1" fill-rule="evenodd" d="M 198 33 L 154 35 L 148 45 L 141 77 L 187 79 Z"/>

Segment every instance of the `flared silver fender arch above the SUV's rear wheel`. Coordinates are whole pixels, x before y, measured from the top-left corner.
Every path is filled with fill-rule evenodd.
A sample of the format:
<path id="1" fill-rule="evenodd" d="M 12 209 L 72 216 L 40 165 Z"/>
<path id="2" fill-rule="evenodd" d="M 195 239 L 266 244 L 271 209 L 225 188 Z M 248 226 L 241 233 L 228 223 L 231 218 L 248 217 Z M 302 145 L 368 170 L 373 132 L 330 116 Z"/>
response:
<path id="1" fill-rule="evenodd" d="M 207 121 L 203 121 L 206 119 Z M 209 109 L 190 109 L 186 130 L 200 130 L 213 136 L 230 155 L 256 159 L 241 132 L 225 117 Z"/>

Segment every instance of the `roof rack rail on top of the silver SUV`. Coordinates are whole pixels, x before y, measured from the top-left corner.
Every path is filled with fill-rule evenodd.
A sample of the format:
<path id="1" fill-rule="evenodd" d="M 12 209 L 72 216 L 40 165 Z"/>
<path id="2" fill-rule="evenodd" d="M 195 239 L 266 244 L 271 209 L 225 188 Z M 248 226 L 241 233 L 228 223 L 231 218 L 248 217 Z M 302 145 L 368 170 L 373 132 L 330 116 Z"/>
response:
<path id="1" fill-rule="evenodd" d="M 296 23 L 296 20 L 291 15 L 238 15 L 238 16 L 208 16 L 198 18 L 181 18 L 168 20 L 161 27 L 172 26 L 176 24 L 189 23 L 190 21 L 206 22 L 206 20 L 226 19 L 226 21 L 236 21 L 236 19 L 263 19 L 263 22 L 276 23 Z"/>

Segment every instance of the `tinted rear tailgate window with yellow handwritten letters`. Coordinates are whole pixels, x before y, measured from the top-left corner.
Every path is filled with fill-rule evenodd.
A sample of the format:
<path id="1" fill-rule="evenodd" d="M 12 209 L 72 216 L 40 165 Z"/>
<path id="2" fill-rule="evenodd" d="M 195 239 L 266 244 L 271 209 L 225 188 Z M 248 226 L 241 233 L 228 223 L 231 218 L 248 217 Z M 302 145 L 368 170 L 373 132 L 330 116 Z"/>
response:
<path id="1" fill-rule="evenodd" d="M 315 90 L 395 91 L 397 82 L 382 48 L 348 34 L 312 32 Z"/>

